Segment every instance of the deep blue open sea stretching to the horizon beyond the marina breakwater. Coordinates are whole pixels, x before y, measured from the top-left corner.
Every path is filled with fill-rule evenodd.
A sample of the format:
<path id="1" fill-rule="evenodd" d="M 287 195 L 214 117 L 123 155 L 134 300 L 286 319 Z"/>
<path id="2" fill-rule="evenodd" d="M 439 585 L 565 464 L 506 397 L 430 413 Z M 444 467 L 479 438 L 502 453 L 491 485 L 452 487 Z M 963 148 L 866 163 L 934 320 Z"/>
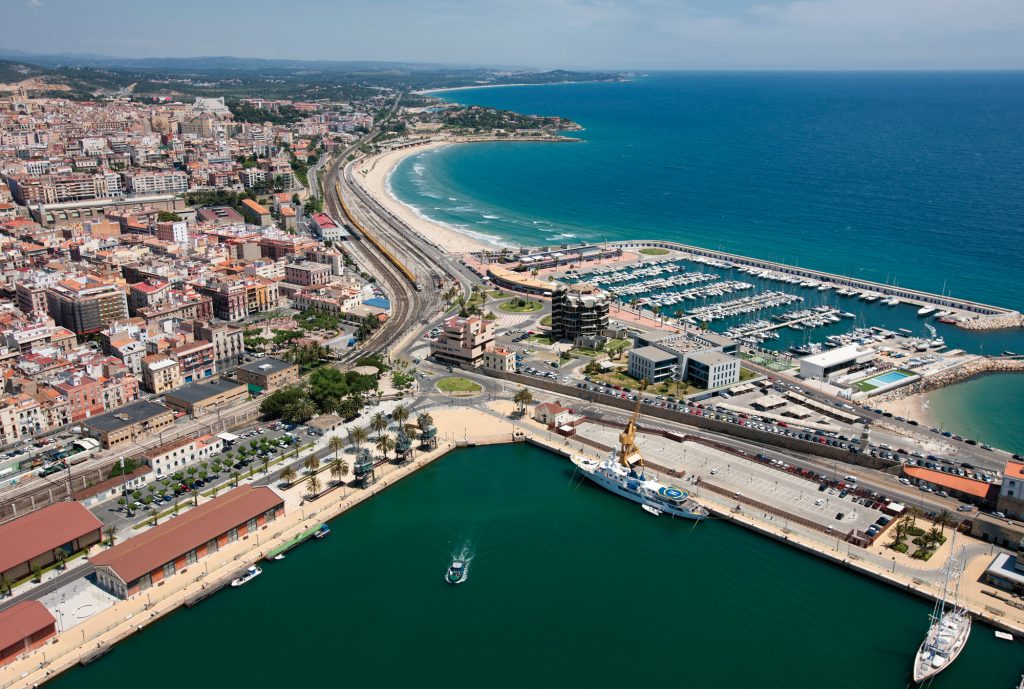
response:
<path id="1" fill-rule="evenodd" d="M 407 159 L 395 196 L 463 231 L 669 239 L 1024 309 L 1024 73 L 656 74 L 441 95 L 585 128 L 578 143 Z M 922 329 L 868 308 L 870 325 Z M 1024 351 L 1020 331 L 939 334 Z"/>

